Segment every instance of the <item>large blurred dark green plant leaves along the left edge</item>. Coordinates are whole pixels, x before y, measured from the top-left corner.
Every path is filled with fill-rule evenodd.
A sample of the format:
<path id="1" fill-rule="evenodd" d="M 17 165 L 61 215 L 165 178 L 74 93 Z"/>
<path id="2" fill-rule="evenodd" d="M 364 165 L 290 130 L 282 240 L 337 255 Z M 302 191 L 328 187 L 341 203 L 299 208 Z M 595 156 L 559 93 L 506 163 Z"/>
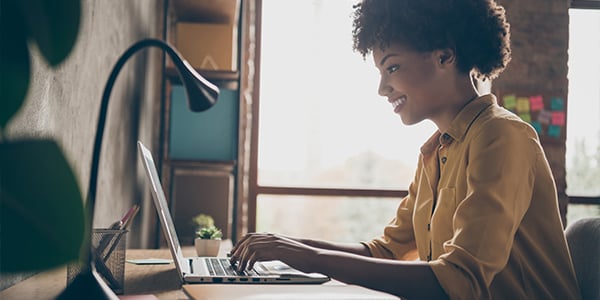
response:
<path id="1" fill-rule="evenodd" d="M 0 277 L 73 262 L 89 243 L 81 189 L 62 147 L 7 131 L 35 84 L 30 49 L 59 67 L 75 47 L 80 2 L 0 1 Z"/>

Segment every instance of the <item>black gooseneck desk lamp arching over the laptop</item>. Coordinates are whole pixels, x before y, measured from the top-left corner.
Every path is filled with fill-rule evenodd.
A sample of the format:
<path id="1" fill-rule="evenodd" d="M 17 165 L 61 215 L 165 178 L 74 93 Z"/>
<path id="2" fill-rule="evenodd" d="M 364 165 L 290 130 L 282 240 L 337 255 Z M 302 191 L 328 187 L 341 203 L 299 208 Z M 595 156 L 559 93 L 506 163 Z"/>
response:
<path id="1" fill-rule="evenodd" d="M 96 127 L 96 139 L 94 142 L 94 153 L 92 156 L 92 168 L 90 172 L 90 182 L 88 185 L 88 194 L 86 200 L 86 237 L 82 249 L 84 257 L 82 271 L 59 295 L 58 299 L 79 299 L 85 296 L 86 299 L 118 299 L 110 290 L 106 283 L 96 272 L 93 263 L 93 249 L 91 245 L 92 227 L 94 219 L 94 206 L 96 202 L 96 188 L 98 180 L 98 165 L 100 162 L 100 150 L 102 149 L 102 136 L 104 133 L 104 124 L 106 121 L 108 101 L 117 75 L 127 60 L 137 51 L 146 47 L 158 47 L 164 50 L 171 58 L 175 68 L 179 72 L 181 82 L 185 86 L 188 98 L 188 106 L 194 112 L 202 112 L 211 108 L 219 96 L 219 89 L 202 77 L 194 68 L 169 44 L 158 39 L 144 39 L 133 44 L 119 58 L 112 69 L 100 103 L 100 115 L 98 116 L 98 126 Z"/>

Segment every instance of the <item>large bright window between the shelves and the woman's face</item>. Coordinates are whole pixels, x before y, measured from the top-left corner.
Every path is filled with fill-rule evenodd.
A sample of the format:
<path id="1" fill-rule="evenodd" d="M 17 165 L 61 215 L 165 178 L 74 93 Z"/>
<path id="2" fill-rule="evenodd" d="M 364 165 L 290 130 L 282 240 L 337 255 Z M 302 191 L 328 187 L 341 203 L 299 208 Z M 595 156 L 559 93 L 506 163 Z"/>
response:
<path id="1" fill-rule="evenodd" d="M 257 231 L 380 235 L 435 130 L 378 96 L 372 58 L 352 50 L 354 3 L 262 1 Z"/>

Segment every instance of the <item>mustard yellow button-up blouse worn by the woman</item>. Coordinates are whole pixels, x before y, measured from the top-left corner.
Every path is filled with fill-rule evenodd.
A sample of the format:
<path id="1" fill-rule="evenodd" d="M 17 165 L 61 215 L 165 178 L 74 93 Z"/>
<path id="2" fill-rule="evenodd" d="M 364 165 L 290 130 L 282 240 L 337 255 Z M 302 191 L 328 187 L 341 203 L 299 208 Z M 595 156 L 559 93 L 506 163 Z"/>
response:
<path id="1" fill-rule="evenodd" d="M 374 257 L 415 247 L 451 299 L 579 299 L 554 179 L 535 130 L 493 95 L 421 148 Z"/>

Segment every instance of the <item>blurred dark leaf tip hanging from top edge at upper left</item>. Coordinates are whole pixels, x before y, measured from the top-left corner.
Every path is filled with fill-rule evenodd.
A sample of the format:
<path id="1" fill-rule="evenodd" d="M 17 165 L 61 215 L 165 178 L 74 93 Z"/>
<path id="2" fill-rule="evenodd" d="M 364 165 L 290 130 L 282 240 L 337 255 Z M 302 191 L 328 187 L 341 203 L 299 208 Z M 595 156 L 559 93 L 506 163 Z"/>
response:
<path id="1" fill-rule="evenodd" d="M 19 0 L 29 37 L 51 66 L 60 64 L 71 52 L 81 18 L 80 0 Z"/>

